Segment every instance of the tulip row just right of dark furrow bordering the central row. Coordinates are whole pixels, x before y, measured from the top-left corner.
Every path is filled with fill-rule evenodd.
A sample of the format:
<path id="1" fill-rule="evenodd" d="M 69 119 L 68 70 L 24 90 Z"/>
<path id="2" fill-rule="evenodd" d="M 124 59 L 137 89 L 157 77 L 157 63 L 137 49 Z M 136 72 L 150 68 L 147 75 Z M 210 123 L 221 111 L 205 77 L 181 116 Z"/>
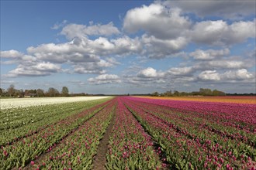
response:
<path id="1" fill-rule="evenodd" d="M 215 141 L 212 141 L 212 134 L 201 133 L 198 128 L 192 131 L 192 128 L 189 128 L 189 125 L 191 125 L 189 122 L 171 120 L 171 117 L 159 114 L 159 111 L 154 110 L 152 107 L 150 108 L 152 111 L 150 111 L 147 107 L 149 102 L 141 103 L 137 98 L 133 100 L 130 97 L 124 97 L 123 101 L 126 107 L 140 121 L 140 124 L 144 125 L 154 140 L 164 149 L 171 168 L 254 168 L 255 162 L 251 160 L 250 156 L 246 155 L 247 152 L 237 153 L 238 151 L 234 150 L 236 145 L 242 144 L 230 143 L 232 140 L 220 138 L 218 135 L 214 136 Z M 154 107 L 157 107 L 157 105 L 155 104 Z M 219 141 L 223 142 L 219 143 Z M 227 145 L 223 145 L 225 141 L 227 141 Z M 255 149 L 250 148 L 250 150 L 252 155 L 255 155 Z"/>

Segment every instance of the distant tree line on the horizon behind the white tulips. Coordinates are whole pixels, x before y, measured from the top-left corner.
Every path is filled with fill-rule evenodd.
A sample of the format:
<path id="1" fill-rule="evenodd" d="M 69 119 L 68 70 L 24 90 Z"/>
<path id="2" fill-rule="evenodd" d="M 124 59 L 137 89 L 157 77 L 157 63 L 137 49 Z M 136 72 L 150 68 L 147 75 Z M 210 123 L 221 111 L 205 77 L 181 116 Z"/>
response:
<path id="1" fill-rule="evenodd" d="M 50 87 L 47 91 L 42 89 L 35 90 L 17 90 L 14 85 L 10 85 L 7 90 L 0 88 L 1 97 L 69 97 L 69 96 L 85 96 L 86 93 L 70 94 L 67 87 L 62 87 L 61 92 L 54 87 Z"/>

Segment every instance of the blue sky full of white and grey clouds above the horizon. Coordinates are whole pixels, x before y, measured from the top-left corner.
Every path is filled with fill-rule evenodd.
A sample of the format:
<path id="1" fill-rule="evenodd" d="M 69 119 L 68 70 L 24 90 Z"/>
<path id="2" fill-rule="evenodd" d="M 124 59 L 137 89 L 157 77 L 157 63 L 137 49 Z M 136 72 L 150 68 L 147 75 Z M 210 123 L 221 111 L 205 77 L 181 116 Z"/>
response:
<path id="1" fill-rule="evenodd" d="M 1 1 L 1 88 L 255 93 L 251 1 Z"/>

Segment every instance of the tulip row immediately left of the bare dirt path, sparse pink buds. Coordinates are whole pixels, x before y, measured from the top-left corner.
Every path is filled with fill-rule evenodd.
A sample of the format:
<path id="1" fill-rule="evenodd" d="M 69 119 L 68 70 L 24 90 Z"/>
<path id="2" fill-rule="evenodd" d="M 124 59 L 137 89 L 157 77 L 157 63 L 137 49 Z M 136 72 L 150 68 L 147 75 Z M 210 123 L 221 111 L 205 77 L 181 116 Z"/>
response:
<path id="1" fill-rule="evenodd" d="M 116 99 L 95 114 L 43 158 L 30 162 L 35 169 L 90 169 L 93 157 L 116 108 Z"/>

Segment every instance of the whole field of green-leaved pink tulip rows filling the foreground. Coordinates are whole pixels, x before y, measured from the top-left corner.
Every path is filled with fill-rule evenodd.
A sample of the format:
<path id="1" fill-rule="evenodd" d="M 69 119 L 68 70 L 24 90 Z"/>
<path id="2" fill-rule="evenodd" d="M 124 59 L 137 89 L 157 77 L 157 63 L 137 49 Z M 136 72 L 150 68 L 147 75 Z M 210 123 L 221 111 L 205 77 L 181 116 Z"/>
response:
<path id="1" fill-rule="evenodd" d="M 256 104 L 237 100 L 106 97 L 0 117 L 0 169 L 256 168 Z"/>

